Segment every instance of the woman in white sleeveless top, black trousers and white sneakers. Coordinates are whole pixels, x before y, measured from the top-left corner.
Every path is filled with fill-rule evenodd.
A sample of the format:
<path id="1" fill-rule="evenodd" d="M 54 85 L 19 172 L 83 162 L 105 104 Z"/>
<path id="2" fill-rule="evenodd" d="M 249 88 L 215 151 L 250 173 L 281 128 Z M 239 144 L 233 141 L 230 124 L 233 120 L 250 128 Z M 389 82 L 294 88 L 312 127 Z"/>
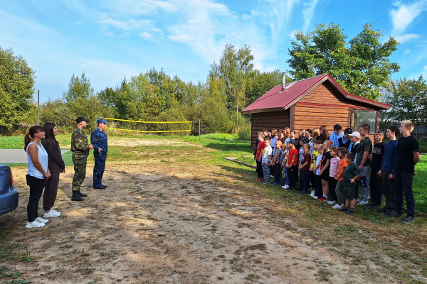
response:
<path id="1" fill-rule="evenodd" d="M 30 197 L 27 205 L 28 222 L 26 228 L 40 228 L 47 222 L 46 219 L 38 217 L 38 201 L 43 192 L 43 182 L 51 178 L 48 169 L 48 153 L 41 145 L 41 139 L 45 138 L 43 127 L 31 126 L 24 137 L 24 150 L 27 153 L 28 173 L 26 175 L 27 185 L 30 187 Z"/>

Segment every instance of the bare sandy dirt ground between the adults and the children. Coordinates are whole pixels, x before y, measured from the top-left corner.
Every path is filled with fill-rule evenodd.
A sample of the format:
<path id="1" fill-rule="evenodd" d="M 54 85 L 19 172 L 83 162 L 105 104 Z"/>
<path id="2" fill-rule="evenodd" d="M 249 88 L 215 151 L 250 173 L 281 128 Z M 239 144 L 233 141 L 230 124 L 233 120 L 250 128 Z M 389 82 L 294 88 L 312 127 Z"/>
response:
<path id="1" fill-rule="evenodd" d="M 83 202 L 70 201 L 67 167 L 62 216 L 41 229 L 24 228 L 26 169 L 14 170 L 20 204 L 9 219 L 33 261 L 1 266 L 33 283 L 394 283 L 254 205 L 219 167 L 158 161 L 107 162 L 105 190 L 91 187 L 88 165 Z"/>

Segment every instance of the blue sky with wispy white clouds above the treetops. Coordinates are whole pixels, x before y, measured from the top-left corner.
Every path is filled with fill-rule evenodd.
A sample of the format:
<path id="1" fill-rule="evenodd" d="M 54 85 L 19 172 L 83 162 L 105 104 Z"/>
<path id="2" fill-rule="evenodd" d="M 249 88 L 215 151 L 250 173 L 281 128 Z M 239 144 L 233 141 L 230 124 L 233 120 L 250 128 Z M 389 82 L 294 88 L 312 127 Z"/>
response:
<path id="1" fill-rule="evenodd" d="M 394 79 L 427 78 L 427 0 L 0 0 L 0 46 L 36 70 L 46 102 L 82 72 L 95 92 L 152 67 L 204 81 L 226 43 L 250 45 L 258 70 L 288 70 L 293 33 L 331 22 L 349 38 L 374 23 L 401 43 Z"/>

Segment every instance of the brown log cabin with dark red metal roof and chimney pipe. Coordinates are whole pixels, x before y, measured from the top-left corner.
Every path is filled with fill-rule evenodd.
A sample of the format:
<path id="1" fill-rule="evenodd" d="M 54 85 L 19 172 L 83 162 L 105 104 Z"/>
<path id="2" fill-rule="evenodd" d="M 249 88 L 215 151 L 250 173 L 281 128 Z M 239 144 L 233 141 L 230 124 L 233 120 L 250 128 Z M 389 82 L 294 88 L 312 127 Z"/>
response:
<path id="1" fill-rule="evenodd" d="M 371 126 L 379 129 L 379 112 L 389 104 L 347 93 L 329 74 L 275 86 L 243 109 L 251 114 L 251 145 L 255 146 L 258 131 L 263 129 L 292 130 L 327 126 L 329 132 L 339 124 L 342 130 Z"/>

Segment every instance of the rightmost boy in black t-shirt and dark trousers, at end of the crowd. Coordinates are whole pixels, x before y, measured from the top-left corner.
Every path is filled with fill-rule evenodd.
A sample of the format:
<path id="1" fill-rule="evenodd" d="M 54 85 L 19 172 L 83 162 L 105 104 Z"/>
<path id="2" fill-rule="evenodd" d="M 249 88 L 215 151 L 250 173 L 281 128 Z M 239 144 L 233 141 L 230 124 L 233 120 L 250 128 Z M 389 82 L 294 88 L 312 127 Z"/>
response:
<path id="1" fill-rule="evenodd" d="M 394 165 L 394 186 L 399 190 L 396 194 L 396 212 L 401 214 L 404 208 L 404 196 L 406 199 L 406 218 L 403 223 L 415 221 L 415 199 L 413 197 L 412 182 L 415 173 L 415 165 L 420 160 L 418 141 L 411 136 L 413 131 L 412 121 L 402 121 L 399 131 L 402 137 L 397 141 L 396 164 Z M 402 195 L 403 193 L 403 195 Z"/>

